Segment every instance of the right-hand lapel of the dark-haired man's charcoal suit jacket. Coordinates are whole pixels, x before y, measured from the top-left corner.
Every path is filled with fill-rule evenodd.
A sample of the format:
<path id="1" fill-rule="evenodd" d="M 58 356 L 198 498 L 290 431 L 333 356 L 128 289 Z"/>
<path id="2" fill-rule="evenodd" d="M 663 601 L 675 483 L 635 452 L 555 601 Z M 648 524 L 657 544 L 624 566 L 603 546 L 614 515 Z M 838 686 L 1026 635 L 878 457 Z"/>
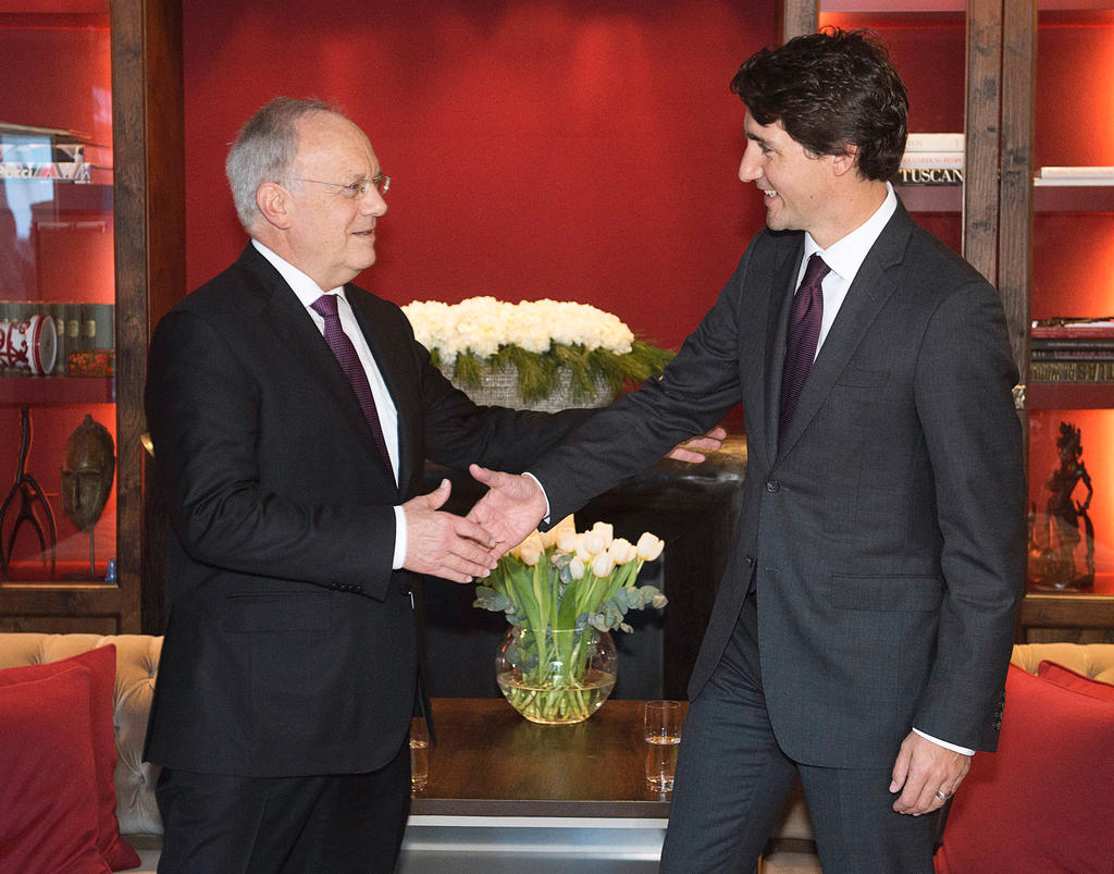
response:
<path id="1" fill-rule="evenodd" d="M 793 448 L 793 444 L 812 421 L 817 411 L 831 394 L 840 373 L 851 360 L 854 350 L 869 330 L 878 312 L 897 289 L 897 278 L 890 271 L 900 265 L 909 241 L 912 220 L 898 203 L 897 212 L 882 229 L 882 233 L 859 268 L 854 282 L 847 291 L 839 314 L 828 331 L 817 360 L 809 371 L 809 378 L 797 401 L 793 419 L 778 445 L 782 456 Z M 784 340 L 782 341 L 784 349 Z"/>

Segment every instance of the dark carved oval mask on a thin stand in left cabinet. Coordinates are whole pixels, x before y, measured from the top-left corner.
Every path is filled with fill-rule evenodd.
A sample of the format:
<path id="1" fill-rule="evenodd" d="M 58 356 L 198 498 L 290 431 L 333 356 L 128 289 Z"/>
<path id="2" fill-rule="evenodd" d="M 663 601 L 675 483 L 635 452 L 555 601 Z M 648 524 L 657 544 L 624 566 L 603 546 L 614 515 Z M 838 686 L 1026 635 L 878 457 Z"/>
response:
<path id="1" fill-rule="evenodd" d="M 66 441 L 62 459 L 62 512 L 78 531 L 89 534 L 89 574 L 96 576 L 92 530 L 105 511 L 116 476 L 113 435 L 92 416 Z"/>

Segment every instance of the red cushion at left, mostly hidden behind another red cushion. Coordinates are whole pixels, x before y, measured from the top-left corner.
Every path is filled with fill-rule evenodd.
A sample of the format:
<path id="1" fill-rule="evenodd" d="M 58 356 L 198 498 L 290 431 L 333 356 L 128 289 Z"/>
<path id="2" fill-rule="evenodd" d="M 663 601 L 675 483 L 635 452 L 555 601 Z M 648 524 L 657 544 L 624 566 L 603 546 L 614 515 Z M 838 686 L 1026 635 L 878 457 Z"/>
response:
<path id="1" fill-rule="evenodd" d="M 82 652 L 70 659 L 26 664 L 0 671 L 0 686 L 52 677 L 75 666 L 88 669 L 91 686 L 92 750 L 96 767 L 97 847 L 114 871 L 131 868 L 139 856 L 120 837 L 116 822 L 116 729 L 113 720 L 113 689 L 116 686 L 116 647 Z"/>

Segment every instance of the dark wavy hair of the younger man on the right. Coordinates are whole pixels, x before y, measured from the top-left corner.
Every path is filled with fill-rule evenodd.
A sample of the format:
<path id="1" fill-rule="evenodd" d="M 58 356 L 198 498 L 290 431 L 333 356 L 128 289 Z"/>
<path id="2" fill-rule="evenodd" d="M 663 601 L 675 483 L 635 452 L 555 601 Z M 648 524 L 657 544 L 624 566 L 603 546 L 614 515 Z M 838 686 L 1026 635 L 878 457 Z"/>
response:
<path id="1" fill-rule="evenodd" d="M 878 38 L 825 28 L 762 49 L 731 80 L 754 120 L 781 122 L 814 155 L 858 148 L 859 173 L 886 181 L 905 152 L 909 97 Z"/>

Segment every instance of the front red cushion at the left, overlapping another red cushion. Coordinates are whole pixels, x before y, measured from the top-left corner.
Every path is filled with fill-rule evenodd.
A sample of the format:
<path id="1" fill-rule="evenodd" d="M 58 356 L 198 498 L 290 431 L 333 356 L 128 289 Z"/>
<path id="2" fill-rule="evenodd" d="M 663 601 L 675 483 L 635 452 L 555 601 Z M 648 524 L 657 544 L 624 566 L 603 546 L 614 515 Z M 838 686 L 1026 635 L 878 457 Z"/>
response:
<path id="1" fill-rule="evenodd" d="M 0 871 L 101 874 L 90 679 L 71 666 L 0 688 Z"/>

